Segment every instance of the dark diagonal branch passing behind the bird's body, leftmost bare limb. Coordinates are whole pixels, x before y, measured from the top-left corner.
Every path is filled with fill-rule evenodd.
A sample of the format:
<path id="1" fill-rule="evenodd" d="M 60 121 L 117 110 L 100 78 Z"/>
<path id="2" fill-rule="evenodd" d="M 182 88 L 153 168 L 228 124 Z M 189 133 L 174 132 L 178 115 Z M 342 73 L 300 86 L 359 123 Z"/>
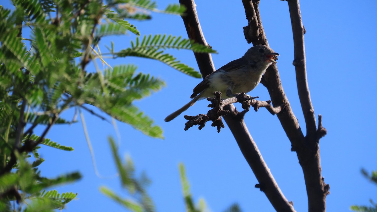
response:
<path id="1" fill-rule="evenodd" d="M 182 19 L 185 23 L 189 38 L 197 43 L 201 43 L 202 45 L 208 45 L 204 40 L 204 36 L 199 25 L 194 1 L 179 0 L 179 2 L 187 8 L 187 11 L 185 12 L 185 15 L 182 16 Z M 198 61 L 198 66 L 203 77 L 215 71 L 210 55 L 195 54 L 195 57 Z M 233 133 L 242 154 L 253 170 L 259 185 L 261 186 L 268 200 L 270 200 L 271 204 L 277 211 L 294 211 L 293 206 L 288 202 L 277 186 L 270 169 L 268 169 L 266 163 L 264 162 L 262 155 L 248 132 L 243 119 L 239 118 L 239 112 L 236 111 L 233 104 L 228 105 L 225 109 L 229 110 L 230 114 L 224 116 L 224 119 Z"/>

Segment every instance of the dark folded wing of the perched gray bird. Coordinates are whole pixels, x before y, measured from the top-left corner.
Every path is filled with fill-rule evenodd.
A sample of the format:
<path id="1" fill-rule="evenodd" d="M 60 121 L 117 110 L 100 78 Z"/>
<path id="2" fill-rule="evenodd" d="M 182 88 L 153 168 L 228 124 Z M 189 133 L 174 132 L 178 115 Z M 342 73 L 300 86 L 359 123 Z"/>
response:
<path id="1" fill-rule="evenodd" d="M 208 74 L 207 77 L 204 78 L 195 88 L 193 89 L 193 94 L 190 96 L 190 98 L 196 97 L 198 94 L 200 94 L 202 91 L 204 91 L 206 88 L 208 88 L 210 83 L 210 77 L 211 75 L 215 74 L 219 70 L 223 70 L 225 72 L 234 71 L 236 69 L 242 68 L 245 66 L 245 63 L 243 62 L 244 58 L 239 58 L 237 60 L 233 60 L 229 62 L 227 65 L 222 66 L 221 68 L 217 69 L 215 72 L 212 72 L 211 74 Z"/>

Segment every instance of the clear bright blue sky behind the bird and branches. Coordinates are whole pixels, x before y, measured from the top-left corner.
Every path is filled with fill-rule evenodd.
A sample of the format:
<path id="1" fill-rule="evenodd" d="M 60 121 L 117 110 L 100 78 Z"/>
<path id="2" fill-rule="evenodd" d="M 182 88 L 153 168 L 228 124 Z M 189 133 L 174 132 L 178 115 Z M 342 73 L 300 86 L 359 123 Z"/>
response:
<path id="1" fill-rule="evenodd" d="M 213 54 L 216 68 L 241 57 L 251 46 L 247 44 L 242 27 L 247 25 L 241 1 L 197 0 L 197 11 L 207 42 L 219 54 Z M 174 0 L 159 0 L 163 9 Z M 375 49 L 377 49 L 375 8 L 377 2 L 366 1 L 301 1 L 308 84 L 316 115 L 322 114 L 328 134 L 320 140 L 322 175 L 330 185 L 328 211 L 349 211 L 352 204 L 369 205 L 369 198 L 377 201 L 377 186 L 360 173 L 377 169 L 377 135 L 373 106 L 377 92 Z M 9 3 L 7 2 L 6 4 Z M 5 5 L 6 6 L 6 5 Z M 264 0 L 260 3 L 262 23 L 270 47 L 280 54 L 277 67 L 285 93 L 305 132 L 305 122 L 297 95 L 293 61 L 293 38 L 287 2 Z M 179 16 L 152 14 L 147 22 L 132 23 L 144 34 L 172 34 L 187 37 Z M 134 35 L 109 37 L 101 40 L 127 48 Z M 197 68 L 190 51 L 169 51 L 179 60 Z M 120 155 L 130 155 L 138 173 L 142 171 L 152 180 L 148 191 L 157 211 L 184 211 L 178 163 L 185 164 L 187 177 L 195 201 L 204 198 L 213 211 L 225 210 L 239 203 L 243 211 L 274 211 L 258 189 L 253 172 L 246 163 L 228 127 L 217 133 L 208 123 L 204 129 L 184 131 L 183 114 L 165 123 L 166 115 L 187 103 L 192 89 L 201 80 L 189 77 L 158 61 L 123 58 L 109 60 L 111 65 L 133 63 L 138 71 L 150 73 L 164 81 L 166 87 L 135 104 L 155 120 L 164 130 L 164 140 L 149 138 L 127 124 L 118 123 L 121 135 Z M 249 93 L 269 100 L 263 85 Z M 208 102 L 199 101 L 184 114 L 206 113 Z M 241 109 L 239 104 L 235 105 Z M 73 111 L 64 117 L 70 118 Z M 107 137 L 116 137 L 115 129 L 84 112 L 89 137 L 95 152 L 98 170 L 95 175 L 81 123 L 55 126 L 48 138 L 75 151 L 64 152 L 42 146 L 46 161 L 40 166 L 42 174 L 55 177 L 63 172 L 80 171 L 81 181 L 58 187 L 59 192 L 77 192 L 78 200 L 67 205 L 66 211 L 121 211 L 122 207 L 102 195 L 98 188 L 105 185 L 118 194 L 126 194 L 120 187 Z M 297 211 L 305 211 L 307 195 L 302 169 L 295 152 L 276 116 L 267 110 L 250 111 L 245 123 L 288 201 Z M 58 167 L 58 168 L 57 168 Z"/>

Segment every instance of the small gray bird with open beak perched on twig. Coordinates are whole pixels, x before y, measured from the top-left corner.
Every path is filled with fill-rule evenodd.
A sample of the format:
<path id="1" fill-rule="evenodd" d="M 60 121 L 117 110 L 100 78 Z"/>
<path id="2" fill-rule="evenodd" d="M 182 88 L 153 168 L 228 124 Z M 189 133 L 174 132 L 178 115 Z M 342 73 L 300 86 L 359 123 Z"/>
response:
<path id="1" fill-rule="evenodd" d="M 265 45 L 251 47 L 241 58 L 231 61 L 205 77 L 194 88 L 190 97 L 192 100 L 168 115 L 165 121 L 173 120 L 190 106 L 193 106 L 196 101 L 213 97 L 214 91 L 221 91 L 226 97 L 233 97 L 235 94 L 242 92 L 250 92 L 259 84 L 267 67 L 272 63 L 276 63 L 273 58 L 277 55 L 279 54 Z"/>

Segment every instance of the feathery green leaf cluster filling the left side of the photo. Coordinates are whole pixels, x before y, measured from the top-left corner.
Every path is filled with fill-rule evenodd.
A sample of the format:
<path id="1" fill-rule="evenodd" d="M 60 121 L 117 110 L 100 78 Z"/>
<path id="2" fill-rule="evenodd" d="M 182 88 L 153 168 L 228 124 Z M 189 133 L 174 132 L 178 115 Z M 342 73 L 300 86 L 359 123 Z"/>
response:
<path id="1" fill-rule="evenodd" d="M 133 101 L 158 91 L 164 81 L 136 72 L 133 64 L 111 67 L 103 55 L 154 59 L 200 77 L 164 51 L 215 51 L 180 36 L 144 35 L 143 39 L 130 41 L 129 48 L 116 52 L 111 43 L 109 52 L 101 52 L 103 37 L 129 33 L 140 36 L 132 20 L 150 19 L 150 12 L 182 14 L 185 8 L 177 4 L 164 10 L 149 0 L 110 0 L 106 4 L 100 0 L 12 0 L 12 4 L 12 9 L 0 6 L 0 211 L 63 209 L 77 194 L 45 190 L 74 182 L 80 174 L 45 178 L 38 169 L 44 162 L 38 153 L 40 144 L 73 151 L 73 147 L 46 138 L 54 124 L 76 123 L 77 113 L 88 110 L 89 104 L 98 108 L 90 111 L 97 117 L 103 117 L 97 112 L 103 111 L 150 137 L 162 138 L 162 129 Z M 108 68 L 100 69 L 98 62 Z M 89 63 L 95 70 L 88 70 Z M 62 118 L 69 109 L 75 110 L 72 120 Z M 34 132 L 37 127 L 42 129 L 40 134 Z M 132 163 L 129 161 L 123 169 L 132 173 Z M 154 210 L 143 189 L 148 180 L 122 176 L 124 186 L 137 194 L 141 205 Z M 19 207 L 12 206 L 12 201 L 17 201 Z M 132 201 L 127 204 L 138 207 Z"/>

